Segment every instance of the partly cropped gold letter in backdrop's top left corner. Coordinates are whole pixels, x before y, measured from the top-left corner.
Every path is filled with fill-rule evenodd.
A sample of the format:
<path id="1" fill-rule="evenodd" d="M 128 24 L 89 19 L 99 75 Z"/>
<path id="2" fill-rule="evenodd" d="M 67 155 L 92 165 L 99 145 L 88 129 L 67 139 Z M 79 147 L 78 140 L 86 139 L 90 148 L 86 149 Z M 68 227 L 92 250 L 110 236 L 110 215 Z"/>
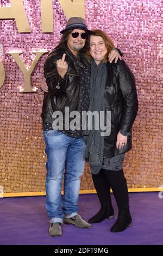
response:
<path id="1" fill-rule="evenodd" d="M 30 32 L 22 0 L 10 0 L 11 7 L 0 7 L 0 19 L 15 19 L 18 32 Z"/>

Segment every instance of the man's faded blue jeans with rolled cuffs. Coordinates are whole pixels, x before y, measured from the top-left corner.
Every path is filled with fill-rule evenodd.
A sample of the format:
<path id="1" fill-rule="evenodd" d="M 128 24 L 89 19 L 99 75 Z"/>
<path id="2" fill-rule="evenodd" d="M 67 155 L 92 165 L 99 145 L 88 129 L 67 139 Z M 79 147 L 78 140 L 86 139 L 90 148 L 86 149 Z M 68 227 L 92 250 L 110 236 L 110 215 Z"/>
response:
<path id="1" fill-rule="evenodd" d="M 61 222 L 66 215 L 78 212 L 80 176 L 83 174 L 85 142 L 60 131 L 43 131 L 46 143 L 46 210 L 50 222 Z M 64 199 L 61 202 L 62 178 Z"/>

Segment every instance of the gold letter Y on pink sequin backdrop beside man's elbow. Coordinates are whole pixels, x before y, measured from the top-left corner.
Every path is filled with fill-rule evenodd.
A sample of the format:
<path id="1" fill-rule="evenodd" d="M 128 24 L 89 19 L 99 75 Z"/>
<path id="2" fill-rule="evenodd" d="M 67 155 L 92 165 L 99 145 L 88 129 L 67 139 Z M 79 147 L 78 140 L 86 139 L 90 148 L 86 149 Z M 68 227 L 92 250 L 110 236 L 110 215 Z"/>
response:
<path id="1" fill-rule="evenodd" d="M 35 90 L 32 89 L 31 84 L 30 84 L 30 75 L 32 74 L 35 65 L 39 61 L 40 57 L 42 54 L 45 54 L 47 52 L 34 52 L 36 54 L 33 63 L 30 65 L 30 68 L 27 69 L 26 66 L 24 65 L 21 57 L 19 56 L 22 52 L 8 52 L 16 61 L 17 65 L 21 69 L 23 75 L 24 75 L 24 89 L 21 91 L 21 93 L 34 93 Z"/>

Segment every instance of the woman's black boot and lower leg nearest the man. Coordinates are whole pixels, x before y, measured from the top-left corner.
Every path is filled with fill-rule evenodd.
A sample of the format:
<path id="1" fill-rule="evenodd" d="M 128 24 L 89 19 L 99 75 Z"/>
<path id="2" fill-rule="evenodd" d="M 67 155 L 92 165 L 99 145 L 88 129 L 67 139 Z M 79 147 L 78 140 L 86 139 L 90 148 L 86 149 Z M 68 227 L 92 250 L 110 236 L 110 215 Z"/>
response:
<path id="1" fill-rule="evenodd" d="M 101 203 L 101 209 L 88 222 L 99 223 L 105 220 L 105 218 L 111 220 L 114 218 L 114 209 L 111 205 L 110 185 L 103 169 L 100 170 L 99 174 L 92 174 L 92 179 Z"/>

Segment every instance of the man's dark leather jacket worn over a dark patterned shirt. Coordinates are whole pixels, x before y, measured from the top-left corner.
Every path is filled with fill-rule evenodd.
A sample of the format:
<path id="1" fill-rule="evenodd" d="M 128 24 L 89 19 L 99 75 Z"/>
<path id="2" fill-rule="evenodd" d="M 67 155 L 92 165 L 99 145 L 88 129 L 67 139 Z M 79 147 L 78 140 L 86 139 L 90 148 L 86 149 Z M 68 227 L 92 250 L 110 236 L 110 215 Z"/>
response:
<path id="1" fill-rule="evenodd" d="M 65 78 L 62 79 L 57 72 L 56 62 L 66 53 L 65 61 L 68 64 L 68 70 Z M 86 54 L 79 52 L 78 57 L 83 64 L 90 69 L 90 62 Z M 75 60 L 75 63 L 74 63 Z M 67 46 L 65 48 L 55 48 L 47 57 L 44 64 L 44 75 L 48 85 L 48 93 L 45 93 L 43 99 L 41 117 L 43 121 L 53 123 L 52 114 L 54 111 L 64 113 L 65 106 L 71 111 L 79 111 L 80 86 L 78 74 L 78 60 Z"/>

